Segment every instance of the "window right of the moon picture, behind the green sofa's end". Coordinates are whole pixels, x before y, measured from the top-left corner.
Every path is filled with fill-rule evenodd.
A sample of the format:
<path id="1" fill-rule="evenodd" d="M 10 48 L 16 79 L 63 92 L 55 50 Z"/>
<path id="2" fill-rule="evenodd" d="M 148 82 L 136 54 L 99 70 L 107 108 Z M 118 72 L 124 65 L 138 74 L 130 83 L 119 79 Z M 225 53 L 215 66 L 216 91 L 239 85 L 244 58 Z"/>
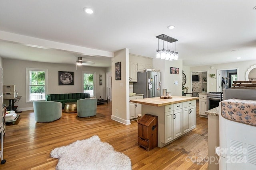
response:
<path id="1" fill-rule="evenodd" d="M 91 97 L 95 96 L 95 72 L 83 72 L 84 93 L 89 93 Z"/>

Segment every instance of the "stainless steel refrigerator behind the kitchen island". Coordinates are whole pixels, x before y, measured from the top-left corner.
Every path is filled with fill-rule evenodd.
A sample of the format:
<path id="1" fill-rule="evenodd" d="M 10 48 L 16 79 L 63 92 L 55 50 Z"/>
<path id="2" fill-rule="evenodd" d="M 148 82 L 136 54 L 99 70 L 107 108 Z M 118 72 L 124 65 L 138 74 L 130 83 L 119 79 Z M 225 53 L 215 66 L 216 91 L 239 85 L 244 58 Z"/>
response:
<path id="1" fill-rule="evenodd" d="M 161 96 L 161 72 L 138 72 L 138 81 L 133 84 L 133 92 L 144 94 L 143 98 Z"/>

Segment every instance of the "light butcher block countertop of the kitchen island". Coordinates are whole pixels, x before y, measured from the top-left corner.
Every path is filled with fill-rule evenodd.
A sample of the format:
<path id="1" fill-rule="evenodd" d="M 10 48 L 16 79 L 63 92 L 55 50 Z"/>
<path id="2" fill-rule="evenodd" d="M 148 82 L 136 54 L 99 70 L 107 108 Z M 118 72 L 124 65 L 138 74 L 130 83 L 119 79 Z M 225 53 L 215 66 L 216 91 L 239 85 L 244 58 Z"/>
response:
<path id="1" fill-rule="evenodd" d="M 166 106 L 169 104 L 176 104 L 180 102 L 187 102 L 187 101 L 197 100 L 197 99 L 199 98 L 187 97 L 187 96 L 172 96 L 172 99 L 161 99 L 160 97 L 156 97 L 156 98 L 130 100 L 130 102 L 160 107 L 160 106 Z"/>

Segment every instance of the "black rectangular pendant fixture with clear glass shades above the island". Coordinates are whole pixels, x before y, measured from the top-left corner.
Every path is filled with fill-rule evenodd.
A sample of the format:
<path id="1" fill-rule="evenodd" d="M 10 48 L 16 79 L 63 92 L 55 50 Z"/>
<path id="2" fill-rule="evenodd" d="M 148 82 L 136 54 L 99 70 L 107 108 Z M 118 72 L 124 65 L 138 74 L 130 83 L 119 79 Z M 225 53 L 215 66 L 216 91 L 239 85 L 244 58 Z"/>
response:
<path id="1" fill-rule="evenodd" d="M 169 37 L 167 35 L 161 34 L 156 36 L 158 38 L 158 49 L 156 50 L 156 58 L 157 59 L 165 59 L 165 60 L 178 60 L 178 52 L 176 51 L 176 41 L 178 39 Z M 162 39 L 163 41 L 163 48 L 162 50 L 159 50 L 159 39 Z M 164 48 L 164 41 L 166 41 L 166 49 Z M 172 43 L 175 42 L 175 52 L 172 49 Z M 170 49 L 168 49 L 168 43 L 170 44 Z"/>

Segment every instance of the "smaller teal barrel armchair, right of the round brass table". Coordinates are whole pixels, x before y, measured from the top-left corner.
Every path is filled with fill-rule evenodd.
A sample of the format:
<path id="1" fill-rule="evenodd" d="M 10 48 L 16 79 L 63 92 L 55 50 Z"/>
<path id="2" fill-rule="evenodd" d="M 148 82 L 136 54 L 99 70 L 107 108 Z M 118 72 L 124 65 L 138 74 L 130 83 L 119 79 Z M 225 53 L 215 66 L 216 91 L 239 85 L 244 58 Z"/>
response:
<path id="1" fill-rule="evenodd" d="M 90 117 L 96 115 L 97 99 L 80 99 L 76 102 L 78 117 Z"/>

